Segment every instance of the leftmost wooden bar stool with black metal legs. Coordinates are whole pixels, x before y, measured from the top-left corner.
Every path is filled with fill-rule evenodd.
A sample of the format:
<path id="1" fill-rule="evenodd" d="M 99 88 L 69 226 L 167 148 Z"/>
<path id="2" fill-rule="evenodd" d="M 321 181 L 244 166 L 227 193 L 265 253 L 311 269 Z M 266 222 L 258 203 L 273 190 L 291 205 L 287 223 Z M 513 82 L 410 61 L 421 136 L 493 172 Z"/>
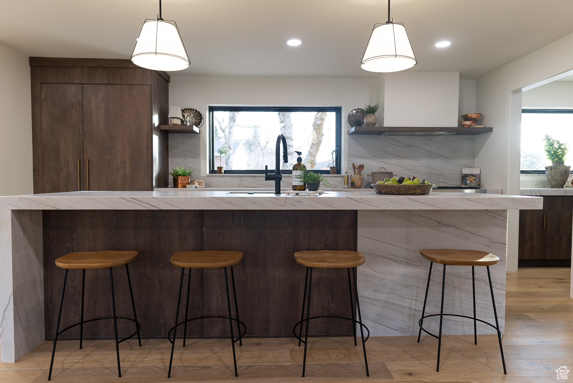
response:
<path id="1" fill-rule="evenodd" d="M 138 316 L 135 314 L 135 301 L 134 292 L 131 289 L 131 279 L 129 278 L 129 268 L 127 264 L 138 256 L 136 251 L 87 251 L 79 253 L 70 253 L 56 259 L 56 266 L 65 269 L 64 273 L 64 286 L 62 287 L 62 298 L 60 299 L 60 311 L 58 312 L 58 322 L 56 325 L 56 335 L 54 335 L 54 344 L 52 347 L 52 361 L 50 361 L 50 372 L 48 380 L 52 379 L 52 367 L 54 365 L 54 354 L 56 353 L 56 342 L 58 335 L 66 330 L 75 326 L 80 326 L 80 349 L 84 337 L 84 323 L 93 321 L 101 321 L 102 319 L 113 319 L 113 329 L 115 330 L 115 351 L 117 354 L 117 374 L 121 377 L 121 366 L 119 362 L 119 343 L 127 341 L 127 339 L 138 335 L 139 346 L 141 347 L 142 341 L 139 336 L 139 328 L 141 327 L 138 322 Z M 127 273 L 127 283 L 129 285 L 129 294 L 131 295 L 131 306 L 134 309 L 134 318 L 126 318 L 124 316 L 117 316 L 115 311 L 115 293 L 113 292 L 113 271 L 112 269 L 117 266 L 125 265 L 125 272 Z M 85 287 L 85 269 L 104 269 L 109 268 L 109 282 L 111 282 L 111 303 L 113 308 L 113 316 L 106 316 L 105 318 L 89 319 L 84 321 L 84 287 Z M 66 280 L 68 279 L 69 269 L 82 269 L 81 274 L 81 314 L 80 322 L 66 327 L 60 331 L 60 319 L 62 316 L 62 305 L 64 304 L 64 293 L 66 291 Z M 135 333 L 129 335 L 127 338 L 117 338 L 117 319 L 127 319 L 128 321 L 135 322 Z"/>

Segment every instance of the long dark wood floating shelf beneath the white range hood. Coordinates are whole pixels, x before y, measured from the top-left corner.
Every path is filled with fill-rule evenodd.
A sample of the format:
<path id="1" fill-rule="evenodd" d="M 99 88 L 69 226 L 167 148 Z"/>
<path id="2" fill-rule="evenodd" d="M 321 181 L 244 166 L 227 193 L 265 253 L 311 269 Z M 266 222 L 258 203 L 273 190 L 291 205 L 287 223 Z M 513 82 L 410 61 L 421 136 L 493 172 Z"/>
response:
<path id="1" fill-rule="evenodd" d="M 488 127 L 390 127 L 390 126 L 354 126 L 348 131 L 351 135 L 386 135 L 386 136 L 431 136 L 431 135 L 456 135 L 475 136 L 492 132 Z"/>

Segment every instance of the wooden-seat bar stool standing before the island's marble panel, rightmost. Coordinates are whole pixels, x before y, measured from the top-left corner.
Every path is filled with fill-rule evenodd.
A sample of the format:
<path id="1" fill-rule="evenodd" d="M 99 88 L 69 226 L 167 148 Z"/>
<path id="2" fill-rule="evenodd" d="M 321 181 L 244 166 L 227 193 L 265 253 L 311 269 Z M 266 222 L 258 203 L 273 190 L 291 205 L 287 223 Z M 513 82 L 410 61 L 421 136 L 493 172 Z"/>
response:
<path id="1" fill-rule="evenodd" d="M 461 318 L 473 319 L 473 333 L 474 333 L 474 344 L 477 345 L 477 322 L 485 323 L 488 326 L 493 327 L 497 331 L 497 339 L 500 343 L 501 352 L 501 363 L 503 364 L 503 373 L 507 375 L 507 370 L 505 369 L 505 358 L 503 355 L 503 347 L 501 346 L 501 331 L 499 321 L 497 320 L 496 302 L 493 298 L 493 286 L 492 286 L 492 276 L 489 273 L 490 265 L 494 265 L 499 261 L 499 257 L 490 254 L 485 251 L 477 250 L 454 250 L 454 249 L 424 249 L 420 250 L 422 257 L 430 261 L 430 271 L 428 273 L 428 282 L 426 286 L 426 296 L 424 298 L 424 305 L 422 308 L 422 318 L 418 321 L 420 330 L 418 332 L 418 343 L 420 342 L 420 335 L 422 331 L 426 334 L 431 335 L 434 338 L 438 338 L 438 362 L 435 368 L 439 371 L 439 353 L 442 346 L 442 321 L 444 316 L 459 316 Z M 433 264 L 439 263 L 444 265 L 444 275 L 442 275 L 442 303 L 440 306 L 439 314 L 424 315 L 426 312 L 426 300 L 428 298 L 428 290 L 430 288 L 430 277 L 431 269 Z M 458 314 L 444 314 L 444 287 L 446 284 L 446 265 L 452 266 L 471 266 L 472 267 L 472 289 L 473 289 L 473 317 L 467 315 Z M 476 278 L 475 278 L 475 266 L 485 266 L 488 269 L 488 279 L 489 279 L 489 291 L 492 294 L 492 304 L 493 304 L 493 316 L 496 318 L 496 325 L 492 325 L 489 322 L 482 321 L 476 318 Z M 429 318 L 430 316 L 439 316 L 439 335 L 431 334 L 426 331 L 423 327 L 423 320 Z"/>

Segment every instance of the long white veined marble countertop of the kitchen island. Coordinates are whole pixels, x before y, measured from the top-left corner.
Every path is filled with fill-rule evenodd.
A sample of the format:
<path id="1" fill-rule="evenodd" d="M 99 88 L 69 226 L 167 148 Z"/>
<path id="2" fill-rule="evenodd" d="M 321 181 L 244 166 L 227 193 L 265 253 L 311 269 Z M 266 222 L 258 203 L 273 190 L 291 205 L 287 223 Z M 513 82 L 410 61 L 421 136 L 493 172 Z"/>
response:
<path id="1" fill-rule="evenodd" d="M 321 196 L 275 196 L 220 190 L 69 192 L 0 197 L 11 210 L 508 210 L 541 209 L 543 199 L 503 194 L 431 192 L 382 196 L 370 189 L 325 191 Z"/>

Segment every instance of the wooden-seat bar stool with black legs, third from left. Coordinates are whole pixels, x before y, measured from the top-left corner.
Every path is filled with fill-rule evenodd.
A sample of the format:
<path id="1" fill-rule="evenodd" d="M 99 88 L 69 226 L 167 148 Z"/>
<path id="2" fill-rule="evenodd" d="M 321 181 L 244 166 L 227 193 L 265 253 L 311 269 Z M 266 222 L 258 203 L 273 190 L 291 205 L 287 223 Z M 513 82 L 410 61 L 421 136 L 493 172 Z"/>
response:
<path id="1" fill-rule="evenodd" d="M 366 376 L 370 376 L 368 373 L 368 359 L 366 358 L 366 341 L 370 338 L 370 330 L 368 327 L 362 324 L 362 315 L 360 314 L 360 303 L 358 300 L 358 284 L 356 282 L 356 269 L 358 266 L 362 265 L 366 258 L 359 252 L 356 251 L 297 251 L 295 253 L 296 263 L 307 267 L 307 276 L 304 280 L 304 294 L 303 294 L 303 311 L 300 314 L 300 322 L 297 322 L 292 331 L 295 337 L 299 339 L 300 343 L 304 343 L 304 358 L 303 358 L 303 378 L 304 372 L 307 365 L 307 343 L 308 343 L 308 322 L 311 319 L 316 318 L 339 318 L 346 319 L 347 321 L 352 321 L 352 327 L 354 331 L 354 345 L 356 346 L 356 323 L 360 325 L 360 336 L 362 337 L 362 350 L 364 351 L 364 365 L 366 366 Z M 312 289 L 312 269 L 313 268 L 346 268 L 348 272 L 348 290 L 350 291 L 350 308 L 352 313 L 352 318 L 347 318 L 346 316 L 338 315 L 319 315 L 311 316 L 311 289 Z M 352 276 L 354 277 L 354 294 L 356 296 L 356 308 L 358 310 L 358 321 L 354 317 L 354 303 L 352 302 L 352 282 L 350 279 L 350 269 L 352 269 Z M 310 277 L 309 277 L 310 275 Z M 308 286 L 308 303 L 307 303 L 307 319 L 304 319 L 304 303 L 305 298 L 307 298 L 307 286 Z M 303 335 L 303 322 L 306 323 L 306 331 L 304 334 L 304 341 L 302 339 Z M 299 335 L 296 334 L 296 327 L 299 326 Z M 368 331 L 368 335 L 364 338 L 364 329 Z"/>

